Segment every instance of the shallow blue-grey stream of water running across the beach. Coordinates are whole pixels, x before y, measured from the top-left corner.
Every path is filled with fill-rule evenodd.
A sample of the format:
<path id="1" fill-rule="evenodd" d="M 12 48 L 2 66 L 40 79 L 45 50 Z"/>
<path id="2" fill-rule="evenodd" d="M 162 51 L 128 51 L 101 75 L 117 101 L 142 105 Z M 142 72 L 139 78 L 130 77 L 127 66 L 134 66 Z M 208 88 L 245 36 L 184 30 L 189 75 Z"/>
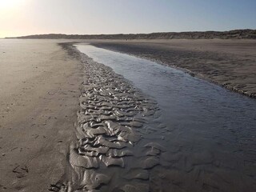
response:
<path id="1" fill-rule="evenodd" d="M 158 123 L 165 130 L 159 128 L 154 136 L 167 152 L 163 166 L 154 168 L 154 175 L 164 174 L 152 178 L 155 186 L 174 191 L 256 190 L 255 99 L 142 58 L 85 44 L 77 48 L 158 103 Z"/>

